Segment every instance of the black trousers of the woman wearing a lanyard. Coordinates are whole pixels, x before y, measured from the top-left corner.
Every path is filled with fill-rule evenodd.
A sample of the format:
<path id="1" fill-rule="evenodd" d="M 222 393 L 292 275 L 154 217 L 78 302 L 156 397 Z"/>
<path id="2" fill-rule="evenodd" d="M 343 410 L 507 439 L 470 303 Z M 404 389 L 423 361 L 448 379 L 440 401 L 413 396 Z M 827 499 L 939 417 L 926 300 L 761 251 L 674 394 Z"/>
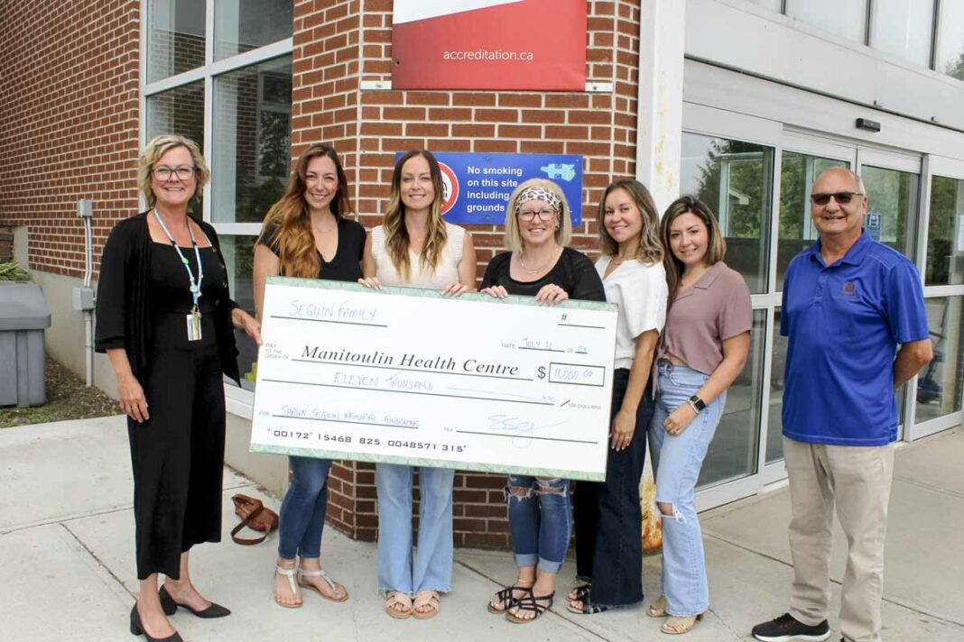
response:
<path id="1" fill-rule="evenodd" d="M 186 336 L 184 316 L 176 331 Z M 206 337 L 213 338 L 213 327 Z M 201 342 L 198 342 L 201 344 Z M 176 345 L 176 344 L 175 344 Z M 144 378 L 150 419 L 127 419 L 137 577 L 180 577 L 180 554 L 221 541 L 225 393 L 217 344 L 155 347 Z"/>

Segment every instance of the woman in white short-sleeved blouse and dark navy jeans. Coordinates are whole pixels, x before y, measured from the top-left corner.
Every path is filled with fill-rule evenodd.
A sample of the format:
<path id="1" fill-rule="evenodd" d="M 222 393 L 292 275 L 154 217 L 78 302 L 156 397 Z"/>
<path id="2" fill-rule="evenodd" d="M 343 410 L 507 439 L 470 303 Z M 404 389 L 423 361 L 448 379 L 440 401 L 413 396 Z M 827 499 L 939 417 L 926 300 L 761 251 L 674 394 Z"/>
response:
<path id="1" fill-rule="evenodd" d="M 605 481 L 576 481 L 573 498 L 576 579 L 582 583 L 569 594 L 568 608 L 580 614 L 643 599 L 639 479 L 653 418 L 648 383 L 666 321 L 666 272 L 649 190 L 629 178 L 611 183 L 598 224 L 603 256 L 596 270 L 606 300 L 619 305 L 619 321 Z"/>

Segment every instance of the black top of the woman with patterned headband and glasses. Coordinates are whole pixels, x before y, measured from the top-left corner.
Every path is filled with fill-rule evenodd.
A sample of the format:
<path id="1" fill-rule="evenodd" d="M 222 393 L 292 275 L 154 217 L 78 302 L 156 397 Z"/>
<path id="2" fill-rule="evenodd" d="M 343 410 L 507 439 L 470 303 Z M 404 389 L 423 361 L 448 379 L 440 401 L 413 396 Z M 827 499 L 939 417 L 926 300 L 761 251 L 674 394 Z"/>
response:
<path id="1" fill-rule="evenodd" d="M 563 247 L 552 270 L 535 281 L 517 281 L 509 273 L 512 252 L 496 255 L 485 269 L 482 288 L 500 285 L 510 295 L 535 296 L 543 287 L 552 284 L 566 291 L 570 298 L 585 301 L 604 301 L 603 280 L 589 258 L 573 249 Z"/>

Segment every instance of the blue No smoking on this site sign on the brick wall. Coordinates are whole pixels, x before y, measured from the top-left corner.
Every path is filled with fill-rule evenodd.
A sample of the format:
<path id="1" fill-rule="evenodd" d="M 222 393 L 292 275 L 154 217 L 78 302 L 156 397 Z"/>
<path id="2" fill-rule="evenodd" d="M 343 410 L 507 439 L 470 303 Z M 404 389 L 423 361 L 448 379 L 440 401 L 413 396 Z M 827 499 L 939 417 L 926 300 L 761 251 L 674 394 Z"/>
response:
<path id="1" fill-rule="evenodd" d="M 395 156 L 401 158 L 399 152 Z M 435 154 L 442 168 L 442 215 L 451 223 L 501 225 L 509 196 L 530 178 L 548 178 L 582 222 L 582 157 L 574 154 Z"/>

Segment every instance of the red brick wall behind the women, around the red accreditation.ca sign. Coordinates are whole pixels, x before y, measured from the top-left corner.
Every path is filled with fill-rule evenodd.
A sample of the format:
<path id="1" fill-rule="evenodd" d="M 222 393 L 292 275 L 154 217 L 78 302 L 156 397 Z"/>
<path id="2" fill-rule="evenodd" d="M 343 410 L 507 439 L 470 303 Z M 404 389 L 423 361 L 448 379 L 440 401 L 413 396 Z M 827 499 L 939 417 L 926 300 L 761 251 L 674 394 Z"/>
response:
<path id="1" fill-rule="evenodd" d="M 580 154 L 583 223 L 574 246 L 596 247 L 595 208 L 613 176 L 635 170 L 639 4 L 589 0 L 586 78 L 607 93 L 361 90 L 391 80 L 391 0 L 308 0 L 295 5 L 292 155 L 314 141 L 335 145 L 362 224 L 381 222 L 394 155 L 434 151 Z M 471 226 L 478 274 L 503 248 L 501 226 Z M 455 479 L 461 546 L 509 545 L 504 475 Z M 417 497 L 417 495 L 416 495 Z M 377 532 L 373 467 L 333 468 L 329 517 L 354 537 Z"/>

